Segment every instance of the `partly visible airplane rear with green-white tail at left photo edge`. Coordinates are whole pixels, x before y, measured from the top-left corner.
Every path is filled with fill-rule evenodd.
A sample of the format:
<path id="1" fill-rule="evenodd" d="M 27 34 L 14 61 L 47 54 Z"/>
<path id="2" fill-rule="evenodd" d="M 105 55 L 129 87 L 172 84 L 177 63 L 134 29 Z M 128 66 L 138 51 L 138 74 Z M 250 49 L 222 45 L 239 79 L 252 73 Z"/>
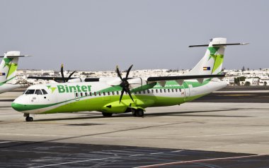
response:
<path id="1" fill-rule="evenodd" d="M 0 64 L 0 93 L 8 92 L 10 90 L 20 88 L 16 85 L 16 71 L 18 67 L 18 58 L 21 56 L 20 52 L 6 52 Z"/>

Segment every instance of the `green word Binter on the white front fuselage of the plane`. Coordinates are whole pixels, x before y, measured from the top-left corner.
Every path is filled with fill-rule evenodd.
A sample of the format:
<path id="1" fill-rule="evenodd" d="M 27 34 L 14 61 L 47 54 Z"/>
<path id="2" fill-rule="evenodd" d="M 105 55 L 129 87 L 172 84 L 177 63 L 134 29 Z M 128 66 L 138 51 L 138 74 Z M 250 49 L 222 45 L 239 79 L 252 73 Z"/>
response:
<path id="1" fill-rule="evenodd" d="M 63 92 L 91 92 L 91 85 L 57 85 L 59 93 Z"/>

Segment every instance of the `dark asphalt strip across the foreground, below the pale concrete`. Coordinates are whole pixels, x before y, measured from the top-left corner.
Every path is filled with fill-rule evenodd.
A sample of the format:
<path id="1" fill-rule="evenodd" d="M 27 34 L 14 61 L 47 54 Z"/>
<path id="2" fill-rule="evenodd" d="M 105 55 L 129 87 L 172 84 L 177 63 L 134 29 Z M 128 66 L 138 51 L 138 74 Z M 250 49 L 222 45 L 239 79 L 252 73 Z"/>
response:
<path id="1" fill-rule="evenodd" d="M 0 167 L 269 167 L 268 155 L 0 141 Z"/>

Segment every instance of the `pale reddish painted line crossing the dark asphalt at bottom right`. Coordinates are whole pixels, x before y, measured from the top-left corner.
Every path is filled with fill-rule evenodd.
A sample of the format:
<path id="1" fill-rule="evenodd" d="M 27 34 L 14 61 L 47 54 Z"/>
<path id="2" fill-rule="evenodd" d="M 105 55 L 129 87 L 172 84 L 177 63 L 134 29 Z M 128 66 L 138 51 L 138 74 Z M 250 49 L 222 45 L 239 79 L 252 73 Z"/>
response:
<path id="1" fill-rule="evenodd" d="M 264 154 L 260 155 L 247 155 L 247 156 L 239 156 L 239 157 L 220 157 L 220 158 L 212 158 L 206 160 L 188 160 L 188 161 L 180 161 L 180 162 L 169 162 L 169 163 L 161 163 L 161 164 L 151 164 L 142 167 L 135 167 L 135 168 L 149 168 L 149 167 L 159 167 L 159 166 L 167 166 L 173 164 L 185 164 L 185 163 L 195 163 L 195 162 L 207 162 L 207 161 L 214 161 L 214 160 L 232 160 L 232 159 L 241 159 L 241 158 L 248 158 L 248 157 L 259 157 L 265 156 Z"/>

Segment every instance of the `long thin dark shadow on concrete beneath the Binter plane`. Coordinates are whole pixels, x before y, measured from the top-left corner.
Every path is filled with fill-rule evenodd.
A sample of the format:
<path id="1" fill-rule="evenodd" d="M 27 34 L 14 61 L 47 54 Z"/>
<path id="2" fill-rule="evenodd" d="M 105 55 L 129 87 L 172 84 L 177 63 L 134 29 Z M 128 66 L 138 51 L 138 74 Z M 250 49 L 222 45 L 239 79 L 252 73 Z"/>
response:
<path id="1" fill-rule="evenodd" d="M 204 112 L 229 112 L 236 111 L 241 108 L 233 109 L 220 109 L 220 110 L 205 110 L 205 111 L 192 111 L 192 112 L 161 112 L 161 113 L 146 113 L 144 117 L 154 117 L 154 116 L 216 116 L 216 117 L 251 117 L 251 116 L 234 116 L 234 115 L 212 115 L 212 114 L 193 114 L 193 113 L 204 113 Z M 132 117 L 132 114 L 115 114 L 112 118 L 122 118 L 122 117 Z M 57 119 L 38 119 L 34 122 L 39 121 L 63 121 L 63 120 L 79 120 L 79 119 L 101 119 L 104 118 L 101 114 L 86 114 L 86 116 L 80 117 L 68 117 L 68 118 L 57 118 Z"/>

